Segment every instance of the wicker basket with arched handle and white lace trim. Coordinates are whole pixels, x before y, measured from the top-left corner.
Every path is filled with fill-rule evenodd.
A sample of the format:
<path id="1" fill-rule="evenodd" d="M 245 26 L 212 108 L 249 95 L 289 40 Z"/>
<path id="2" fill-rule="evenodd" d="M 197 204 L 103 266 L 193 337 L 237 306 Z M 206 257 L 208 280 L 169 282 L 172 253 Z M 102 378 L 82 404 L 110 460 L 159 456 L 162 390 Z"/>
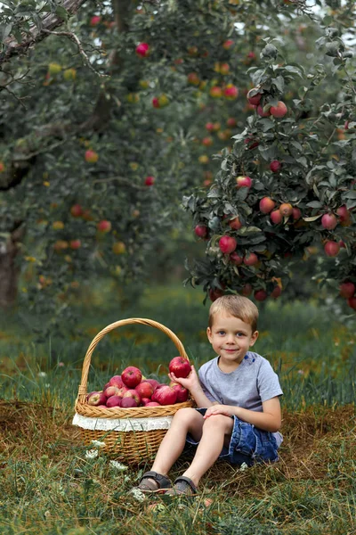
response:
<path id="1" fill-rule="evenodd" d="M 105 334 L 117 327 L 132 324 L 150 325 L 163 331 L 174 342 L 179 354 L 189 360 L 179 338 L 157 321 L 131 317 L 108 325 L 94 337 L 86 351 L 73 424 L 81 428 L 82 439 L 86 446 L 90 446 L 93 440 L 100 441 L 102 453 L 126 464 L 139 464 L 155 456 L 177 410 L 193 407 L 194 402 L 188 399 L 184 403 L 162 407 L 133 408 L 93 407 L 87 404 L 86 386 L 93 350 Z"/>

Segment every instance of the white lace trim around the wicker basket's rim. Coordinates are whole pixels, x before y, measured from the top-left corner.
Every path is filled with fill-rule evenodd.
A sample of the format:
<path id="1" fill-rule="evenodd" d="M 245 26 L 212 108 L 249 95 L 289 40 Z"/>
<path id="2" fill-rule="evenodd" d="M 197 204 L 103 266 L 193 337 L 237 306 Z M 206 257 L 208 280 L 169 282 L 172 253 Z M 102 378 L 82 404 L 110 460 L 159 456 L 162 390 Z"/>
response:
<path id="1" fill-rule="evenodd" d="M 157 429 L 169 429 L 173 416 L 156 418 L 90 418 L 75 414 L 72 424 L 82 429 L 98 431 L 154 431 Z"/>

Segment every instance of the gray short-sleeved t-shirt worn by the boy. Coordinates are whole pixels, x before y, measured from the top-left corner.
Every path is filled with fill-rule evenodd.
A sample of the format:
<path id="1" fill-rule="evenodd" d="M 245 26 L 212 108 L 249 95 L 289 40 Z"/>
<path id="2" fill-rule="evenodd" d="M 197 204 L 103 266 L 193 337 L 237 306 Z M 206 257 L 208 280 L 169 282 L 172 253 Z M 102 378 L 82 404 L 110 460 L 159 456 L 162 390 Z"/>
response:
<path id="1" fill-rule="evenodd" d="M 218 366 L 219 357 L 203 364 L 198 377 L 206 398 L 223 405 L 263 412 L 263 401 L 283 394 L 279 377 L 266 358 L 247 351 L 239 367 L 225 374 Z M 280 433 L 273 433 L 277 443 Z"/>

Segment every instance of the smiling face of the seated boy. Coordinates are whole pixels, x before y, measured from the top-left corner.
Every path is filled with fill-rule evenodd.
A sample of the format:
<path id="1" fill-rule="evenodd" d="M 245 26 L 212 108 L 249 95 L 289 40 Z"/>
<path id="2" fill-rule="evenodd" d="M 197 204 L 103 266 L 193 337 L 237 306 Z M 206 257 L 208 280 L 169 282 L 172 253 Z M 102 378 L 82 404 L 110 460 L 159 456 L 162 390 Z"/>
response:
<path id="1" fill-rule="evenodd" d="M 219 362 L 228 366 L 233 362 L 239 364 L 258 337 L 258 331 L 253 333 L 251 325 L 227 313 L 216 314 L 206 333 L 215 353 L 220 355 Z"/>

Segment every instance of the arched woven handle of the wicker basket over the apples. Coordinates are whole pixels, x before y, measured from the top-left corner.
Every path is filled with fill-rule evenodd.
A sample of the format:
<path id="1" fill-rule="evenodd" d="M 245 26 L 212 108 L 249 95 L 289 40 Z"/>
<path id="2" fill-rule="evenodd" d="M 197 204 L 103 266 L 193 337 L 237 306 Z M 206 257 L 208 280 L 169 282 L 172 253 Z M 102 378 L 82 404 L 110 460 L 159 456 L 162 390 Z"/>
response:
<path id="1" fill-rule="evenodd" d="M 105 336 L 105 334 L 109 333 L 110 331 L 113 331 L 117 327 L 122 327 L 124 325 L 132 325 L 132 324 L 140 324 L 140 325 L 149 325 L 150 327 L 156 327 L 156 329 L 159 329 L 163 333 L 165 333 L 171 340 L 174 342 L 175 347 L 179 351 L 179 354 L 181 357 L 186 358 L 189 361 L 188 355 L 186 351 L 184 350 L 184 347 L 182 345 L 182 342 L 179 340 L 179 338 L 165 325 L 162 325 L 158 323 L 158 321 L 154 321 L 152 319 L 146 319 L 142 317 L 128 317 L 127 319 L 120 319 L 119 321 L 116 321 L 115 323 L 112 323 L 101 330 L 100 333 L 98 333 L 91 342 L 88 350 L 85 354 L 85 359 L 83 362 L 83 369 L 82 369 L 82 379 L 81 383 L 79 384 L 78 388 L 78 397 L 77 400 L 81 403 L 85 403 L 85 396 L 87 394 L 87 383 L 88 383 L 88 374 L 89 374 L 89 367 L 93 355 L 93 350 L 96 348 L 98 343 L 101 341 L 101 339 Z"/>

